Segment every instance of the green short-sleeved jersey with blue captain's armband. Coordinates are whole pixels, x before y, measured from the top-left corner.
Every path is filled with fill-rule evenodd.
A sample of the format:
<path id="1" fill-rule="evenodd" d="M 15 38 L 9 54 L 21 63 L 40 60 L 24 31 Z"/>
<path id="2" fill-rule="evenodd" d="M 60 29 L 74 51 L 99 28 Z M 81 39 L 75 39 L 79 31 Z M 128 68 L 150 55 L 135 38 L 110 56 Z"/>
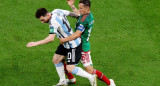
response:
<path id="1" fill-rule="evenodd" d="M 92 13 L 81 15 L 76 23 L 76 30 L 82 31 L 82 50 L 84 52 L 90 50 L 89 37 L 93 27 L 94 18 Z"/>

